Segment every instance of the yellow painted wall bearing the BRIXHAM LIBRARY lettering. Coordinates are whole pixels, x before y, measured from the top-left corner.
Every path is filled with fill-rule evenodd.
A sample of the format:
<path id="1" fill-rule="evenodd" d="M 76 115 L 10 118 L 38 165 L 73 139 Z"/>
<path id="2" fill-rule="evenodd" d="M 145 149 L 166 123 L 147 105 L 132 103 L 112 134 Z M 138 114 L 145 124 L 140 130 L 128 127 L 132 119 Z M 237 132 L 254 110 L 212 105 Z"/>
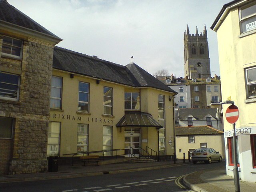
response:
<path id="1" fill-rule="evenodd" d="M 166 137 L 173 136 L 173 107 L 172 102 L 169 101 L 169 96 L 172 93 L 153 88 L 132 88 L 103 80 L 96 84 L 96 80 L 93 78 L 76 74 L 74 74 L 74 78 L 70 78 L 69 73 L 58 70 L 53 70 L 52 75 L 63 78 L 62 110 L 50 110 L 50 121 L 61 122 L 60 156 L 76 153 L 78 123 L 89 124 L 88 151 L 102 150 L 103 126 L 113 126 L 113 149 L 124 149 L 124 128 L 121 129 L 121 132 L 120 128 L 116 128 L 116 124 L 124 116 L 124 92 L 140 92 L 141 111 L 152 114 L 156 121 L 158 121 L 158 94 L 164 95 Z M 89 113 L 77 111 L 79 81 L 90 84 Z M 104 86 L 113 88 L 113 116 L 103 115 Z M 155 127 L 141 128 L 141 139 L 148 139 L 148 143 L 142 143 L 142 148 L 146 149 L 146 146 L 149 146 L 158 151 L 158 135 Z M 168 138 L 166 142 L 168 144 Z M 174 148 L 167 146 L 167 155 L 173 153 Z M 124 151 L 120 151 L 119 154 L 124 154 Z"/>

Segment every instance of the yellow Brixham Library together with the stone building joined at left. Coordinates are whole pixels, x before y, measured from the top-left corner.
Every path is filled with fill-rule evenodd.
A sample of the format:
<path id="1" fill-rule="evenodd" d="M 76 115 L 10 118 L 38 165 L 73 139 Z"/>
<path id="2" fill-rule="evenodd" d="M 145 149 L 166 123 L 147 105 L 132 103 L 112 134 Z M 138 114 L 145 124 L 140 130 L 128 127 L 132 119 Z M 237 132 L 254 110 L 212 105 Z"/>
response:
<path id="1" fill-rule="evenodd" d="M 77 152 L 170 158 L 176 92 L 133 62 L 56 47 L 61 40 L 0 0 L 0 175 L 46 172 L 48 156 Z"/>

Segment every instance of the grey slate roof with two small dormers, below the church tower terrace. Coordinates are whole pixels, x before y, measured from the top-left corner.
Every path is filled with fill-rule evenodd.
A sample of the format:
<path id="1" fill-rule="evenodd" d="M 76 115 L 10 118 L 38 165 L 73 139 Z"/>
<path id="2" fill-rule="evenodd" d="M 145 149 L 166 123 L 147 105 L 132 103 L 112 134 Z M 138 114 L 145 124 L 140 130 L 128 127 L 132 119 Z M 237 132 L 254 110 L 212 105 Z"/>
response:
<path id="1" fill-rule="evenodd" d="M 196 120 L 204 119 L 208 114 L 217 119 L 217 108 L 179 108 L 179 120 L 185 120 L 189 115 L 192 115 Z"/>

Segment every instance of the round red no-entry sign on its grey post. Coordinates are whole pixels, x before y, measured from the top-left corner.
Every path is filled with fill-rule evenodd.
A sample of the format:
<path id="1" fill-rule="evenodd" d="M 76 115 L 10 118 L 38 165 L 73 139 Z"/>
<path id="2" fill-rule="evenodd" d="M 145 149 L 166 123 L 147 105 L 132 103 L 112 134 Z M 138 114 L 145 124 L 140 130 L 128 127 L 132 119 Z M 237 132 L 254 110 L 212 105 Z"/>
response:
<path id="1" fill-rule="evenodd" d="M 234 104 L 230 105 L 226 110 L 226 120 L 233 124 L 233 160 L 234 160 L 234 183 L 235 183 L 235 192 L 240 192 L 240 184 L 239 184 L 239 174 L 238 174 L 238 166 L 237 166 L 237 148 L 236 148 L 236 121 L 239 118 L 239 110 L 238 107 Z"/>

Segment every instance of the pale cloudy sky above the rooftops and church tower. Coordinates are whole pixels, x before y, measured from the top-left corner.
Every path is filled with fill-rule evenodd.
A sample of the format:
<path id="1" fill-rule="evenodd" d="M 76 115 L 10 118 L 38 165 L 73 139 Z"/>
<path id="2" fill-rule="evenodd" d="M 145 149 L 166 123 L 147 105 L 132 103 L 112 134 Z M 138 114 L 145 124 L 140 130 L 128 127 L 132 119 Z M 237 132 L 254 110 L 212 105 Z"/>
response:
<path id="1" fill-rule="evenodd" d="M 62 48 L 153 74 L 184 77 L 184 32 L 206 24 L 211 76 L 220 75 L 217 34 L 210 29 L 230 0 L 7 0 L 63 39 Z"/>

